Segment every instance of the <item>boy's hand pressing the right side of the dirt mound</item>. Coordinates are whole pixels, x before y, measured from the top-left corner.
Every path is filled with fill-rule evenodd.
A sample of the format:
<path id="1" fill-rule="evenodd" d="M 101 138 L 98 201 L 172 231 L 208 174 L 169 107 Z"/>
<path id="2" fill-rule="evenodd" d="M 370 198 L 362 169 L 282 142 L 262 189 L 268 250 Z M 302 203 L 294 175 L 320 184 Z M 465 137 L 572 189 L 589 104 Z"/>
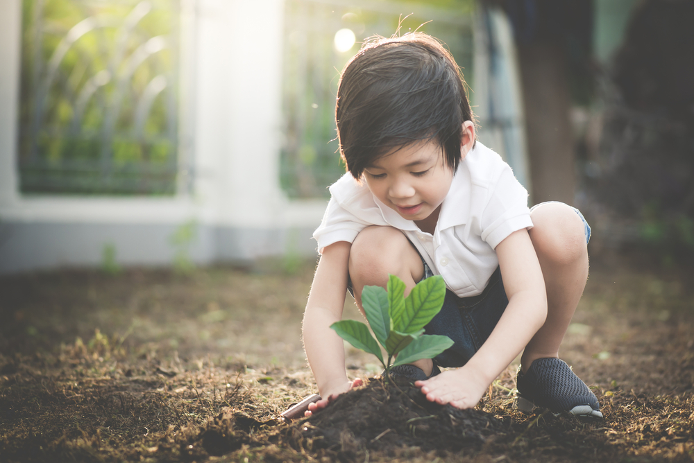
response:
<path id="1" fill-rule="evenodd" d="M 430 402 L 450 403 L 455 408 L 473 408 L 482 399 L 489 382 L 474 369 L 460 367 L 425 381 L 415 381 Z"/>

